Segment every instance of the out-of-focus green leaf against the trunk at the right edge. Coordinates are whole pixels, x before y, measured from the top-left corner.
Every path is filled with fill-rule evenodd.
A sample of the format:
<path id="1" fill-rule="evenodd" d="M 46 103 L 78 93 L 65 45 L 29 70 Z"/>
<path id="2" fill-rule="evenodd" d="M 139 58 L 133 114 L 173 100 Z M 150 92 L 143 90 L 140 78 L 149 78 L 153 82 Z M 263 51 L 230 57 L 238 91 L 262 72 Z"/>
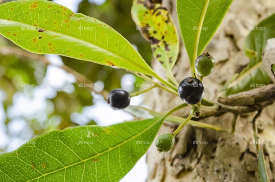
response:
<path id="1" fill-rule="evenodd" d="M 244 42 L 244 51 L 252 52 L 249 64 L 240 73 L 240 76 L 229 84 L 225 95 L 235 94 L 255 87 L 262 87 L 269 84 L 271 79 L 262 65 L 262 52 L 266 46 L 266 41 L 275 37 L 275 14 L 270 15 L 247 35 Z M 254 55 L 254 56 L 251 56 Z"/>

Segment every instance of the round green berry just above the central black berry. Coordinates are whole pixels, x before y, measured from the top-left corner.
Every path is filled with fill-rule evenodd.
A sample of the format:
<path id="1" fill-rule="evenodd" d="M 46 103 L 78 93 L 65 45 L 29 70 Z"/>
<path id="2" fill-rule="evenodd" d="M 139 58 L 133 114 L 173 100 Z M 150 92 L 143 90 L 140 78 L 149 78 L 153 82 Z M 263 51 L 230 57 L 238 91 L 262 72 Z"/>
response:
<path id="1" fill-rule="evenodd" d="M 210 75 L 213 72 L 214 68 L 215 60 L 208 53 L 199 55 L 195 60 L 195 71 L 199 76 Z"/>

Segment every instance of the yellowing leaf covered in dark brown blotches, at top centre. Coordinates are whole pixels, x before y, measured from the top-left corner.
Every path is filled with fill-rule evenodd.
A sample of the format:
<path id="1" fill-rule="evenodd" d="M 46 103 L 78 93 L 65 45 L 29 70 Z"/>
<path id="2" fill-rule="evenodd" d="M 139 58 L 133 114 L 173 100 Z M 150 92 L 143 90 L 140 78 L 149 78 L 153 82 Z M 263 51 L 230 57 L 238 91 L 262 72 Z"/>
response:
<path id="1" fill-rule="evenodd" d="M 134 0 L 131 14 L 137 29 L 150 41 L 154 57 L 170 72 L 178 57 L 178 33 L 168 10 L 151 2 Z"/>

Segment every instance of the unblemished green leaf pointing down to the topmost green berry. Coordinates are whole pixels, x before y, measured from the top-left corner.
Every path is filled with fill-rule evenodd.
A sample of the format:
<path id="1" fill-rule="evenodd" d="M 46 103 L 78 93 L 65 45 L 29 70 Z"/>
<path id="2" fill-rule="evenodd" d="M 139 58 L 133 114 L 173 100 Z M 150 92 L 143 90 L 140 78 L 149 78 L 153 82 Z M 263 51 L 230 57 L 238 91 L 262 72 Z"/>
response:
<path id="1" fill-rule="evenodd" d="M 193 67 L 233 0 L 177 0 L 181 35 Z"/>

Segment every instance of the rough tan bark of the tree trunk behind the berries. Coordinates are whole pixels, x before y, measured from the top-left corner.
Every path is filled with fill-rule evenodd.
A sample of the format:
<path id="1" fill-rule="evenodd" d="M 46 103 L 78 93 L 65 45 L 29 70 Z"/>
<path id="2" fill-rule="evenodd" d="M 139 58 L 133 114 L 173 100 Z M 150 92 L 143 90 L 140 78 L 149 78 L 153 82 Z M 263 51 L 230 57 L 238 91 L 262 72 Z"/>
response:
<path id="1" fill-rule="evenodd" d="M 163 0 L 175 22 L 175 0 Z M 248 63 L 242 51 L 242 43 L 250 27 L 275 12 L 274 0 L 235 0 L 221 26 L 209 43 L 206 51 L 216 60 L 216 68 L 210 77 L 204 78 L 205 98 L 218 99 L 218 89 L 231 76 Z M 177 23 L 178 26 L 178 23 Z M 178 81 L 190 76 L 189 61 L 183 43 L 173 73 Z M 164 76 L 161 65 L 154 62 L 153 68 Z M 182 103 L 182 101 L 163 90 L 152 90 L 148 94 L 152 108 L 162 112 Z M 270 181 L 275 179 L 275 104 L 263 109 L 257 119 L 260 140 L 265 142 L 265 163 Z M 186 108 L 177 112 L 179 116 L 188 114 Z M 215 130 L 186 126 L 176 136 L 175 145 L 168 153 L 158 153 L 152 145 L 147 153 L 147 181 L 259 181 L 256 148 L 253 144 L 252 119 L 256 112 L 237 117 L 234 134 Z M 219 117 L 205 118 L 203 122 L 231 128 L 232 113 Z M 172 132 L 176 125 L 165 123 L 159 134 Z M 198 141 L 199 144 L 195 144 Z M 199 142 L 201 141 L 201 142 Z M 206 144 L 207 143 L 207 144 Z"/>

